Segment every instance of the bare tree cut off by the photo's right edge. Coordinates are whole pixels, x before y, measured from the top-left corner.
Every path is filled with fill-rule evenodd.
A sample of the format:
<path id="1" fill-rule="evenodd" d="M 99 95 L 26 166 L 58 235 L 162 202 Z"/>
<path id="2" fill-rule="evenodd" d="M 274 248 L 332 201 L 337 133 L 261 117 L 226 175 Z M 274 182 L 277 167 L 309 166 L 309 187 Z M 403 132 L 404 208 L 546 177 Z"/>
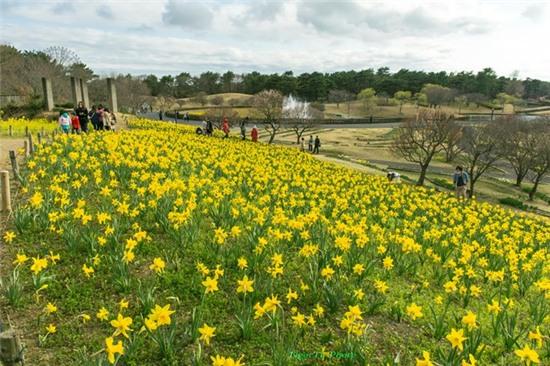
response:
<path id="1" fill-rule="evenodd" d="M 529 200 L 532 201 L 537 193 L 542 178 L 550 173 L 550 124 L 541 123 L 535 127 L 533 138 L 533 159 L 531 160 L 531 172 L 533 173 L 533 187 L 529 191 Z"/>

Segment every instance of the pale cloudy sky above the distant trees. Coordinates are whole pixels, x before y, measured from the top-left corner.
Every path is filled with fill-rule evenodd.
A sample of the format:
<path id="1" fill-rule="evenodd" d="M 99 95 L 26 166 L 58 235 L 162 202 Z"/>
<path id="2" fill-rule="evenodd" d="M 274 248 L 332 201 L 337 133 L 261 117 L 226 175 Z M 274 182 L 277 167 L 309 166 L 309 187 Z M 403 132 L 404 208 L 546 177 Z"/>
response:
<path id="1" fill-rule="evenodd" d="M 388 66 L 550 80 L 550 0 L 0 0 L 0 41 L 97 73 Z"/>

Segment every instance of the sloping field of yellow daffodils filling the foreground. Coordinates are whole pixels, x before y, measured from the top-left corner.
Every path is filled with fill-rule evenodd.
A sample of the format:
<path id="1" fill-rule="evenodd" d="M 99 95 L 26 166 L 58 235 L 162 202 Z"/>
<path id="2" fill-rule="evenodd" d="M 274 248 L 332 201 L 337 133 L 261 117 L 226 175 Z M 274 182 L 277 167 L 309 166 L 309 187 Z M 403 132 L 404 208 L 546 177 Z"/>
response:
<path id="1" fill-rule="evenodd" d="M 0 316 L 29 364 L 550 364 L 547 221 L 130 126 L 24 164 Z"/>

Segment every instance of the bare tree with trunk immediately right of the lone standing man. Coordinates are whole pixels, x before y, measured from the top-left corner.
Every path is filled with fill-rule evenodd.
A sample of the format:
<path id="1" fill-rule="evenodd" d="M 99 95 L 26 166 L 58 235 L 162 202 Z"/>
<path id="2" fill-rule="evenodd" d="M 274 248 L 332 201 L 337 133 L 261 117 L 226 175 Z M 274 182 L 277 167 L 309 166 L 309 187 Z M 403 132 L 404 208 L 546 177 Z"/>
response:
<path id="1" fill-rule="evenodd" d="M 470 175 L 470 197 L 474 195 L 475 184 L 485 172 L 500 158 L 498 136 L 495 124 L 482 127 L 465 127 L 460 138 L 461 161 Z"/>

